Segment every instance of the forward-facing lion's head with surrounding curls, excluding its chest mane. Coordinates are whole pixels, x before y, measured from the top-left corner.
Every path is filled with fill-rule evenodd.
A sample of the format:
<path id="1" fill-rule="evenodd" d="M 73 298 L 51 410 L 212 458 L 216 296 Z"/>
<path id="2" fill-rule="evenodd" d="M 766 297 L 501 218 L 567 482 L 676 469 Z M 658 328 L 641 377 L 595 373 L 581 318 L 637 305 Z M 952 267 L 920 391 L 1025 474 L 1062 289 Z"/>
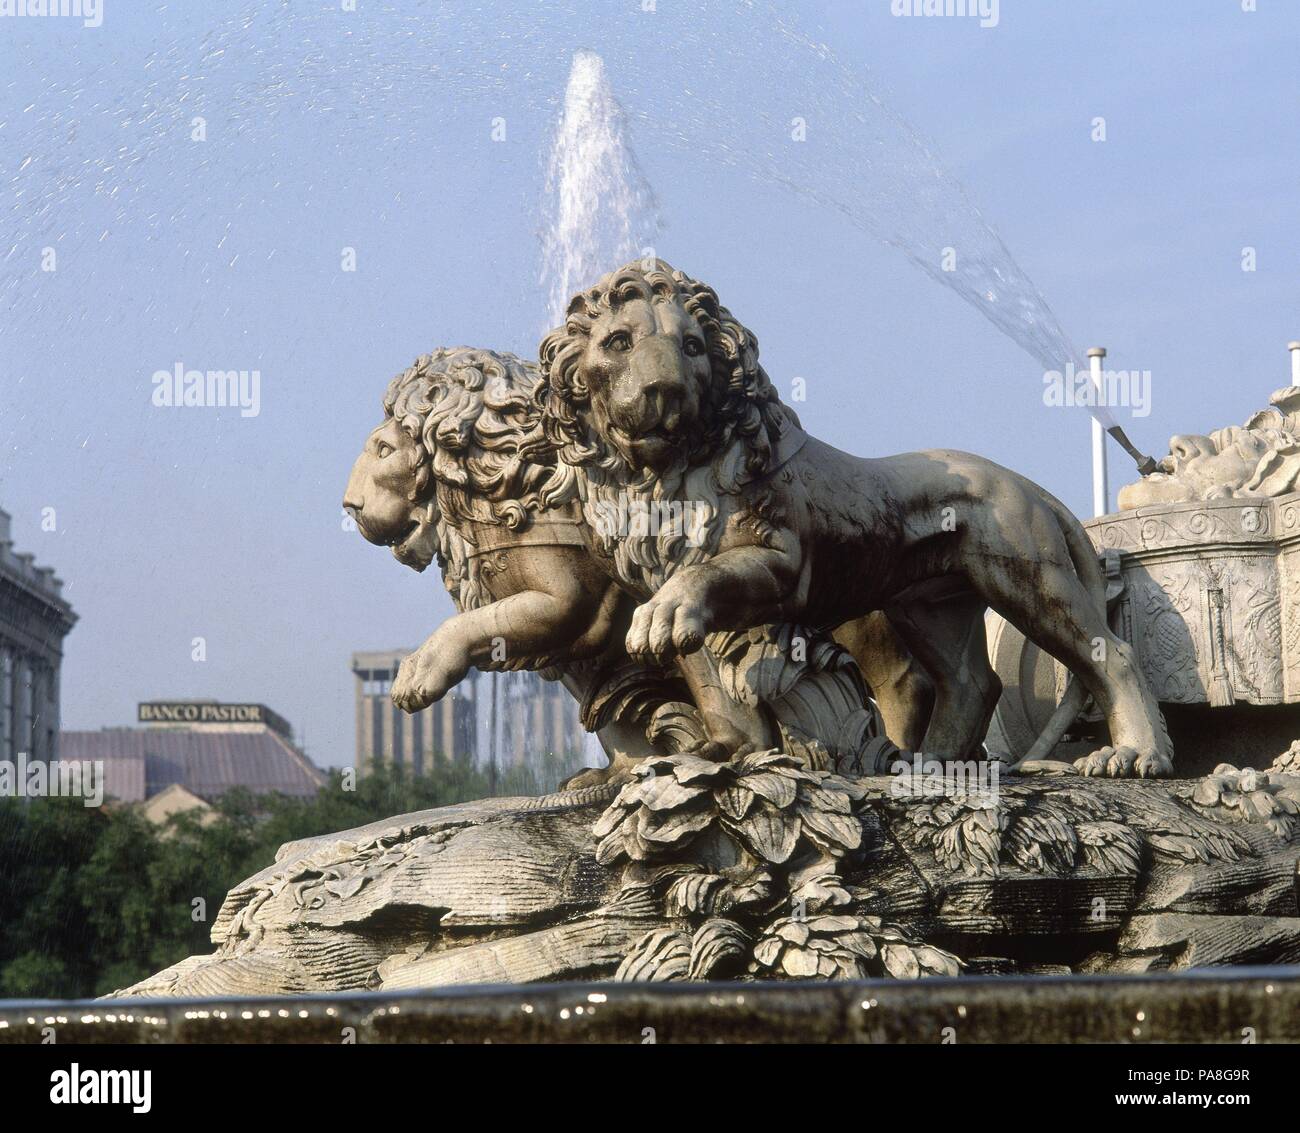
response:
<path id="1" fill-rule="evenodd" d="M 560 459 L 627 478 L 712 459 L 744 438 L 754 470 L 780 405 L 758 340 L 705 283 L 636 261 L 578 292 L 541 347 Z"/>

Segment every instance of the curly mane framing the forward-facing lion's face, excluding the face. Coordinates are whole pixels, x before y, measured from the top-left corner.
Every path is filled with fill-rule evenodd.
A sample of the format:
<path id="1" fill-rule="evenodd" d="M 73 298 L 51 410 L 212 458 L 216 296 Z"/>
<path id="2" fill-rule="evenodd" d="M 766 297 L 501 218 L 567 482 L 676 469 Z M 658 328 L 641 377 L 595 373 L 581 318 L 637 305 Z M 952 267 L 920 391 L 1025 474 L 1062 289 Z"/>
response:
<path id="1" fill-rule="evenodd" d="M 699 418 L 684 438 L 677 463 L 658 476 L 632 469 L 592 429 L 584 412 L 590 392 L 581 360 L 592 327 L 604 312 L 636 299 L 681 304 L 698 322 L 708 350 L 710 379 Z M 708 285 L 663 260 L 634 261 L 575 295 L 564 325 L 546 335 L 540 355 L 546 437 L 560 461 L 580 470 L 584 515 L 597 547 L 614 560 L 620 579 L 647 592 L 673 570 L 710 557 L 722 533 L 707 520 L 689 539 L 673 525 L 644 534 L 611 531 L 608 517 L 627 513 L 629 504 L 660 515 L 686 502 L 697 512 L 716 515 L 719 494 L 734 494 L 746 479 L 763 476 L 776 440 L 800 426 L 759 364 L 754 333 L 722 305 Z"/>

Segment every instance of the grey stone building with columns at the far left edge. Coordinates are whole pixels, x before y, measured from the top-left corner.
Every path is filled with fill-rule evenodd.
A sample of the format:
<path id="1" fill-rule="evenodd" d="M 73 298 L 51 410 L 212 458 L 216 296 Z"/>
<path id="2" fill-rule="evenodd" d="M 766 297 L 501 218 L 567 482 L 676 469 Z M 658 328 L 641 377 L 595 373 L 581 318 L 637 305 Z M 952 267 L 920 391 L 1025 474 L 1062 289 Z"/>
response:
<path id="1" fill-rule="evenodd" d="M 0 511 L 0 759 L 58 757 L 58 670 L 77 615 L 64 583 L 9 539 Z"/>

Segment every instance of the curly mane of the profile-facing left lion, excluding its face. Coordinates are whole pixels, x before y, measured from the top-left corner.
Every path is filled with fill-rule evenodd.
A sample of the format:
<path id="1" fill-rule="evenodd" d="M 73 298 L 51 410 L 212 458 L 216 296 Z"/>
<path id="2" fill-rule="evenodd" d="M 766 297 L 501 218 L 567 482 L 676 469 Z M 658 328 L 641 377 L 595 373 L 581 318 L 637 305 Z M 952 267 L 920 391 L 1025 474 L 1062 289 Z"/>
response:
<path id="1" fill-rule="evenodd" d="M 460 609 L 491 600 L 473 556 L 473 524 L 526 529 L 576 495 L 542 429 L 534 363 L 474 347 L 442 347 L 398 374 L 384 412 L 420 444 L 411 502 L 434 509 L 438 565 Z"/>

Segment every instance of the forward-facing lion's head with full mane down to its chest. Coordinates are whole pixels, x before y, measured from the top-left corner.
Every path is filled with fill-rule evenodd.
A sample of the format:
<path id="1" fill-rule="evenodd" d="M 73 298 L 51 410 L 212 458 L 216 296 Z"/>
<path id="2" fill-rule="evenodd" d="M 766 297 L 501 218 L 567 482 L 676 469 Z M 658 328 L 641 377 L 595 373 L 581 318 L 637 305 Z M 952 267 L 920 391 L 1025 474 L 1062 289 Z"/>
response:
<path id="1" fill-rule="evenodd" d="M 758 361 L 758 340 L 705 283 L 663 260 L 628 264 L 573 296 L 541 346 L 543 422 L 578 470 L 595 547 L 619 579 L 653 592 L 706 559 L 718 494 L 771 466 L 798 418 Z M 689 503 L 680 525 L 611 530 L 611 515 Z"/>

